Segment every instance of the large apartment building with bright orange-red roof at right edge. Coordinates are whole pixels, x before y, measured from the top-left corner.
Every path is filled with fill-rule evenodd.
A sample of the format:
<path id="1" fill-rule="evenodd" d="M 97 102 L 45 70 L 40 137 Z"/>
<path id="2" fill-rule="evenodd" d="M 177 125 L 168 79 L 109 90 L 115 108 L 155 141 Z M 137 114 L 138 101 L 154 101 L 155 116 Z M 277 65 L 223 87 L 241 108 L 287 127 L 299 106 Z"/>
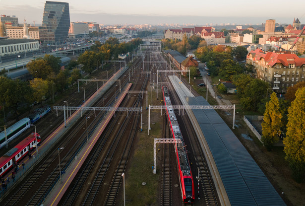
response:
<path id="1" fill-rule="evenodd" d="M 247 63 L 252 64 L 256 77 L 270 84 L 275 92 L 287 91 L 289 86 L 305 80 L 305 58 L 295 54 L 250 51 Z"/>

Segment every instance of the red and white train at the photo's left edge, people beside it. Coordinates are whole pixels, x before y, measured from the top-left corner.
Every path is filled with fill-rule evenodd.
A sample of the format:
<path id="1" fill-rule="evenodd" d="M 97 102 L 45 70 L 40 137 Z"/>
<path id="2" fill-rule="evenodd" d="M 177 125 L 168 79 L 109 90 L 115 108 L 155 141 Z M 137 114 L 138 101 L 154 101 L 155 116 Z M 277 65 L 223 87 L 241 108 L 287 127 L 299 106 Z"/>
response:
<path id="1" fill-rule="evenodd" d="M 15 166 L 17 162 L 20 162 L 25 155 L 37 146 L 36 138 L 39 143 L 41 140 L 40 135 L 38 133 L 36 133 L 36 135 L 35 133 L 31 133 L 0 157 L 0 175 L 9 171 L 10 168 Z"/>

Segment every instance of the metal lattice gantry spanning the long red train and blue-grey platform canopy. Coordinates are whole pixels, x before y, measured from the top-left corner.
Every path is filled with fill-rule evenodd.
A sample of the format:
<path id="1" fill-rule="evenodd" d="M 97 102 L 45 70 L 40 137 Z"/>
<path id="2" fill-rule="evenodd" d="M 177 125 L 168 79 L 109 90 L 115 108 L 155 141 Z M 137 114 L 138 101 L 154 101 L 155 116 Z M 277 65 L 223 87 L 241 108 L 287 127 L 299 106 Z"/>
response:
<path id="1" fill-rule="evenodd" d="M 183 111 L 184 115 L 184 109 L 233 109 L 233 129 L 234 123 L 235 123 L 235 105 L 172 105 L 172 106 L 165 106 L 165 105 L 156 105 L 152 106 L 149 105 L 149 111 L 148 111 L 148 135 L 150 128 L 150 109 L 161 109 L 161 115 L 162 115 L 162 109 L 179 109 L 180 115 L 180 109 Z"/>

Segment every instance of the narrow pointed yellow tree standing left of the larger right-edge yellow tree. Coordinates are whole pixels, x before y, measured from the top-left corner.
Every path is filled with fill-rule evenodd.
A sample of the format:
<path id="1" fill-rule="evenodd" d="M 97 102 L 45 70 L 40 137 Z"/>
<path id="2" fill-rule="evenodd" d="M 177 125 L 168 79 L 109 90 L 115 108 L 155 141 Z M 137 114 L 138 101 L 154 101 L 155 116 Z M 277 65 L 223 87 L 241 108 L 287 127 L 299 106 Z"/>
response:
<path id="1" fill-rule="evenodd" d="M 270 101 L 266 103 L 264 120 L 261 123 L 262 127 L 262 142 L 264 146 L 270 150 L 271 146 L 279 141 L 281 135 L 282 114 L 280 110 L 279 99 L 276 93 L 273 92 L 270 96 Z"/>

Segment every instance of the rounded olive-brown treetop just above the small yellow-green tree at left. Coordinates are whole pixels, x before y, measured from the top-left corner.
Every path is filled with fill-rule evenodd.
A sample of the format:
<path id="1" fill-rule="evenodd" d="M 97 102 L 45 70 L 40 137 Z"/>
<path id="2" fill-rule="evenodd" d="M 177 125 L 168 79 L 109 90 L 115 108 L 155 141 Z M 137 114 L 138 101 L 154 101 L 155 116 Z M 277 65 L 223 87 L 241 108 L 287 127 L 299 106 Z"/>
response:
<path id="1" fill-rule="evenodd" d="M 47 79 L 54 76 L 54 71 L 43 59 L 32 60 L 26 67 L 34 78 Z"/>

